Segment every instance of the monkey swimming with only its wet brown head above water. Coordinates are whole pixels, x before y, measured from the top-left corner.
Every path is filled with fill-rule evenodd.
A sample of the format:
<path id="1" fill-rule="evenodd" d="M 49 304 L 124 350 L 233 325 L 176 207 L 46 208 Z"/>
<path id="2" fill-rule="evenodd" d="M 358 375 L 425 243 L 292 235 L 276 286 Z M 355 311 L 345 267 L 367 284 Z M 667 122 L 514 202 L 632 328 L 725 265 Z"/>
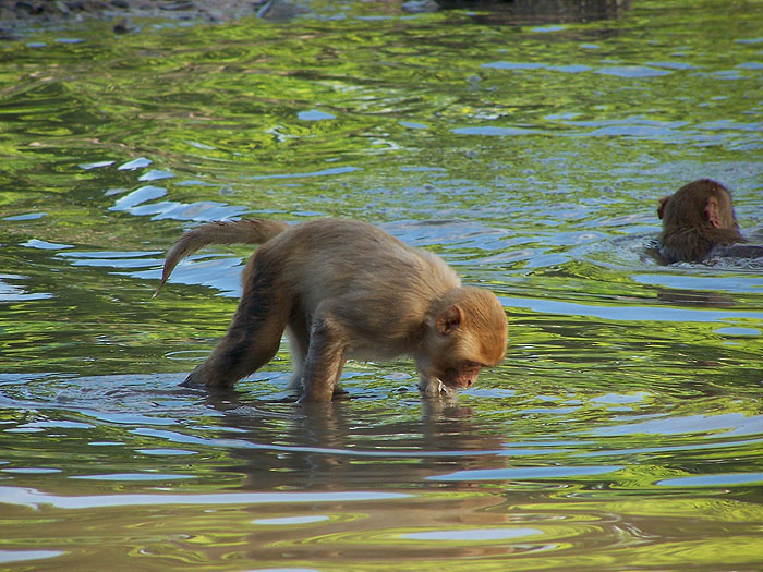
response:
<path id="1" fill-rule="evenodd" d="M 658 253 L 665 264 L 701 263 L 715 254 L 744 256 L 744 250 L 728 250 L 747 239 L 739 230 L 731 194 L 720 183 L 700 179 L 683 185 L 659 200 L 657 216 L 663 221 Z"/>

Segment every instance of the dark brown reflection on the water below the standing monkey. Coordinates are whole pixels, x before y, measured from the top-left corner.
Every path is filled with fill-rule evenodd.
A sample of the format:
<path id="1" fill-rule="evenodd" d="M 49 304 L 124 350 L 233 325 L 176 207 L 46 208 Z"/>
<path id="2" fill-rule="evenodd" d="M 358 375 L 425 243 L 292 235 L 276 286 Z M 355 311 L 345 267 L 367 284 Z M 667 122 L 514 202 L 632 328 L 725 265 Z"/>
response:
<path id="1" fill-rule="evenodd" d="M 243 395 L 209 394 L 207 403 L 241 431 L 232 434 L 241 447 L 230 450 L 241 464 L 230 470 L 246 475 L 246 489 L 436 487 L 427 477 L 507 464 L 502 439 L 480 430 L 474 412 L 453 398 L 421 398 L 421 413 L 412 406 L 391 414 L 382 404 L 370 409 L 352 400 L 298 405 Z"/>

